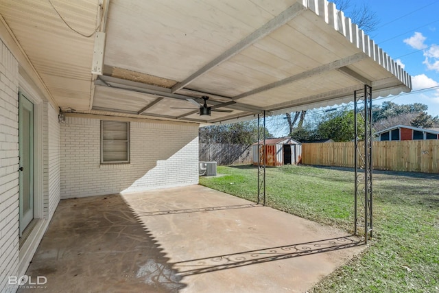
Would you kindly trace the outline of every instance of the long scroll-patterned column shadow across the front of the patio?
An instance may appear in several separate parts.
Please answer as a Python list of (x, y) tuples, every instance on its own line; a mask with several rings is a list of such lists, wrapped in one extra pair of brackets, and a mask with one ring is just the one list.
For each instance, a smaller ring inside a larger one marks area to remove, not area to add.
[(364, 245), (364, 241), (360, 241), (356, 237), (348, 235), (345, 237), (322, 239), (313, 242), (305, 242), (287, 246), (276, 246), (259, 250), (248, 250), (241, 253), (216, 255), (201, 259), (179, 261), (173, 263), (173, 267), (178, 270), (179, 276), (185, 277), (193, 274), (204, 274), (206, 272), (215, 272), (218, 270), (227, 270), (241, 266), (250, 266), (268, 261), (278, 261), (293, 257), (327, 253), (333, 250), (342, 250), (361, 245)]

